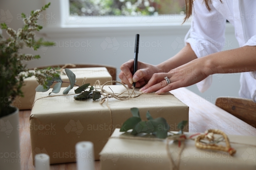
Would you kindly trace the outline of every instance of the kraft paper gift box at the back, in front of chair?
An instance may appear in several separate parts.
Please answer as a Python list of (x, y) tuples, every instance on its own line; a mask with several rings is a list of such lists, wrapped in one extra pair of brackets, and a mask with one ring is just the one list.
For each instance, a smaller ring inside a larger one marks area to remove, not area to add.
[[(100, 80), (100, 82), (105, 83), (111, 81), (112, 77), (105, 67), (94, 67), (94, 68), (73, 68), (70, 69), (76, 75), (76, 84), (81, 86), (83, 84), (83, 79), (86, 77), (86, 83), (93, 85), (95, 81)], [(65, 72), (65, 71), (64, 71)], [(60, 74), (62, 81), (69, 82), (68, 76), (65, 74)], [(36, 77), (29, 77), (24, 79), (25, 86), (22, 87), (24, 97), (17, 96), (13, 105), (20, 110), (31, 109), (31, 106), (35, 99), (36, 87), (38, 86)], [(68, 87), (69, 83), (63, 83), (62, 87)], [(54, 85), (51, 86), (51, 88)]]

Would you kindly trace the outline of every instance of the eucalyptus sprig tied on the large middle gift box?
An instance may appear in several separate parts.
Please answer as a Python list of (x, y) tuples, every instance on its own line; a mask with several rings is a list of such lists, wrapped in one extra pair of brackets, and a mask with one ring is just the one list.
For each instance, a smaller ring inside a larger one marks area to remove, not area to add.
[[(54, 69), (54, 68), (53, 68)], [(55, 69), (54, 69), (55, 71)], [(61, 79), (61, 76), (55, 71), (56, 76), (54, 77), (47, 77), (46, 83), (43, 85), (38, 85), (36, 88), (36, 91), (38, 92), (46, 92), (50, 89), (50, 86), (54, 83), (56, 83), (52, 89), (52, 91), (49, 93), (59, 93), (62, 83), (69, 83), (70, 85), (63, 91), (63, 94), (66, 95), (68, 92), (74, 87), (78, 86), (77, 89), (75, 89), (75, 93), (78, 95), (74, 96), (74, 99), (81, 100), (81, 99), (89, 99), (92, 98), (93, 100), (97, 100), (101, 97), (100, 91), (96, 90), (94, 91), (93, 86), (90, 87), (89, 91), (86, 91), (86, 89), (89, 88), (90, 83), (83, 84), (81, 86), (76, 84), (76, 75), (68, 68), (65, 69), (66, 75), (68, 76), (69, 82), (64, 82)]]

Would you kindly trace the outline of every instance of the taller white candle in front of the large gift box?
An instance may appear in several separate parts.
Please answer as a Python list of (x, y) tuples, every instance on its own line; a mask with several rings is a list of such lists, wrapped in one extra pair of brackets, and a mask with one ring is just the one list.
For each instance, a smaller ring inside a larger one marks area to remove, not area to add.
[(88, 141), (76, 144), (77, 170), (94, 170), (93, 143)]

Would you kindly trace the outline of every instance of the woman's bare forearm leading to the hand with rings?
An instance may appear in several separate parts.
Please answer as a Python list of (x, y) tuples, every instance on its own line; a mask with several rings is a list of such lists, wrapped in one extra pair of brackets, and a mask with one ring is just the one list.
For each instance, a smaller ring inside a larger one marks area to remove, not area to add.
[(207, 75), (256, 70), (256, 46), (244, 46), (199, 58)]

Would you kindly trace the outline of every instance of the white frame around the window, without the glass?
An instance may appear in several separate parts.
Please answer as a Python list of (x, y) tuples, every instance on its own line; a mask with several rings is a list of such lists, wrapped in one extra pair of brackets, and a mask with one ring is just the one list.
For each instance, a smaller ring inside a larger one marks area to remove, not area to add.
[(150, 27), (181, 25), (184, 15), (166, 14), (159, 16), (70, 16), (69, 0), (61, 0), (61, 24), (66, 28), (100, 27)]

